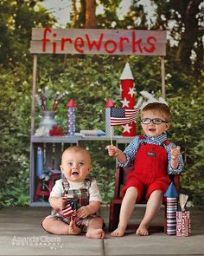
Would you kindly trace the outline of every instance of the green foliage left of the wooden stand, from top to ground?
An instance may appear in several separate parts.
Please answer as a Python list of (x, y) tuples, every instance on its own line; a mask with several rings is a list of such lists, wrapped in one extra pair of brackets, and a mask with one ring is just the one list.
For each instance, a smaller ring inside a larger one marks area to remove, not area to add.
[(0, 2), (0, 205), (28, 205), (31, 28), (51, 26), (41, 1)]

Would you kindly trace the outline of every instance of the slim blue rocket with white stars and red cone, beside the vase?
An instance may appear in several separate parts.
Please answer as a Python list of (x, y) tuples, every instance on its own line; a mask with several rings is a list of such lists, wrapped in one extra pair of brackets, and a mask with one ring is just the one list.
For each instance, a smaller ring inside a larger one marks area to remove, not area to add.
[(71, 99), (67, 103), (67, 135), (75, 133), (75, 102)]

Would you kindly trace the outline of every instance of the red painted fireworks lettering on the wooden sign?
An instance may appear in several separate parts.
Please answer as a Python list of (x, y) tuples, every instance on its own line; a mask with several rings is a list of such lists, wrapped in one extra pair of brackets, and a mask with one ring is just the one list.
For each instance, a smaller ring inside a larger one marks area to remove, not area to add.
[[(125, 51), (125, 54), (136, 53), (137, 55), (150, 55), (151, 53), (158, 51), (159, 48), (163, 50), (163, 42), (157, 42), (160, 41), (157, 34), (155, 36), (143, 36), (143, 33), (140, 34), (140, 30), (138, 33), (136, 30), (131, 31), (129, 34), (124, 33), (124, 36), (118, 37), (111, 36), (112, 34), (105, 34), (105, 32), (96, 34), (98, 36), (91, 33), (92, 38), (88, 32), (86, 32), (86, 34), (82, 34), (83, 36), (74, 37), (77, 33), (73, 33), (72, 31), (70, 37), (61, 37), (58, 36), (56, 32), (54, 33), (50, 28), (45, 28), (42, 31), (42, 52), (50, 51), (51, 48), (51, 51), (54, 54), (56, 52), (61, 53), (63, 51), (67, 51), (68, 49), (66, 49), (66, 47), (69, 47), (67, 43), (71, 45), (71, 52), (75, 51), (80, 54), (96, 53), (96, 51), (99, 53), (101, 52), (101, 54), (105, 54), (105, 52), (107, 54), (119, 54), (119, 51)], [(65, 33), (62, 35), (66, 36)], [(150, 35), (154, 34), (151, 32)], [(160, 47), (160, 45), (162, 46)], [(48, 47), (49, 49), (47, 49)], [(158, 49), (156, 49), (156, 47), (158, 47)]]

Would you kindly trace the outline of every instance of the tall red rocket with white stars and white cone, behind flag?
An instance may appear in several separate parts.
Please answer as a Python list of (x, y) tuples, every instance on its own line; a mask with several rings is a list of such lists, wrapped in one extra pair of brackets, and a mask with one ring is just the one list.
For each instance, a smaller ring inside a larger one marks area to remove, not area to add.
[[(134, 78), (131, 73), (131, 68), (128, 62), (124, 66), (122, 75), (120, 76), (120, 90), (121, 90), (121, 102), (122, 108), (134, 108), (135, 107), (135, 88)], [(135, 136), (136, 135), (136, 123), (133, 121), (123, 125), (123, 136)]]

